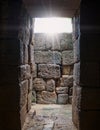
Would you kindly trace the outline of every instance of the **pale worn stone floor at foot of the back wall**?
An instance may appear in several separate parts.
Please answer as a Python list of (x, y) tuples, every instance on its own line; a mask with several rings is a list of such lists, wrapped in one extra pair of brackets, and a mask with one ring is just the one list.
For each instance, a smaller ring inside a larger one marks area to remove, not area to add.
[(33, 104), (23, 130), (76, 130), (71, 105)]

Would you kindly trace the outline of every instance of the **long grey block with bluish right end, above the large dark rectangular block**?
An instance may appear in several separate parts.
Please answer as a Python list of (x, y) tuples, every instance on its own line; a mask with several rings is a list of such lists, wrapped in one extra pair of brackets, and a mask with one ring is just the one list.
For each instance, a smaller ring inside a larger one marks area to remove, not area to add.
[(37, 64), (61, 64), (61, 53), (57, 51), (35, 51), (34, 58)]

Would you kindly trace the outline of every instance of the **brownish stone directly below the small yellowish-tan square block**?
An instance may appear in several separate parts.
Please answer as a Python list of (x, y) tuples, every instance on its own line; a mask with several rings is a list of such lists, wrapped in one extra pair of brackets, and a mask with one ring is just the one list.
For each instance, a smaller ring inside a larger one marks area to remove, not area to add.
[(62, 87), (73, 87), (73, 75), (62, 75), (60, 82)]

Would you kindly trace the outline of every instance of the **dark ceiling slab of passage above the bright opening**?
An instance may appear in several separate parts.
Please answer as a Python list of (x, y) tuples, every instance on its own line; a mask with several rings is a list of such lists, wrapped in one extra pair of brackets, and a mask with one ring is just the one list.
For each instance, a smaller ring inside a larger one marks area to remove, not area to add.
[(80, 0), (23, 0), (32, 17), (73, 17)]

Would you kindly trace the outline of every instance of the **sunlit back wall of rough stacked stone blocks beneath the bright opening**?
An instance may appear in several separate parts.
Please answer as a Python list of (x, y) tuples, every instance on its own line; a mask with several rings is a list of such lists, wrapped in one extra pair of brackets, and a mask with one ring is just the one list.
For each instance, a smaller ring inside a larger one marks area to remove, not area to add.
[(35, 75), (33, 101), (43, 104), (72, 102), (72, 34), (34, 34)]

